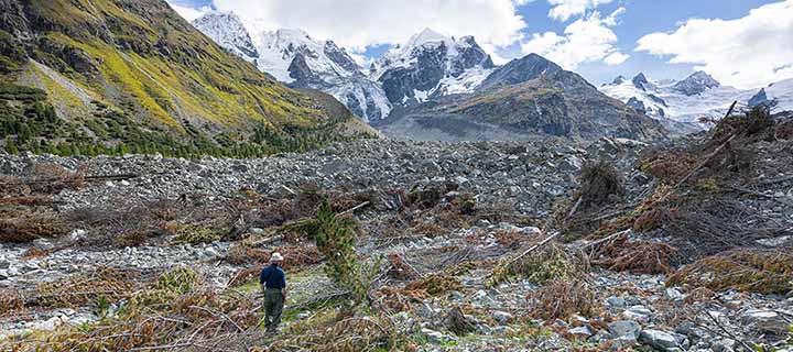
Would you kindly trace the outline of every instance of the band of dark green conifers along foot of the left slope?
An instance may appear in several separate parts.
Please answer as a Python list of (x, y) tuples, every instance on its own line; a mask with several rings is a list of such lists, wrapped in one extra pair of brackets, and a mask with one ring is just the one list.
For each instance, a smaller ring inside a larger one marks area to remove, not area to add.
[(333, 142), (374, 138), (341, 135), (335, 131), (340, 120), (317, 127), (286, 125), (276, 130), (259, 122), (250, 138), (218, 133), (207, 135), (185, 123), (185, 134), (166, 131), (154, 123), (134, 121), (128, 113), (94, 101), (96, 112), (80, 121), (58, 118), (37, 88), (0, 84), (0, 141), (3, 148), (17, 154), (32, 152), (61, 156), (161, 154), (167, 157), (197, 158), (261, 157), (279, 153), (303, 153)]

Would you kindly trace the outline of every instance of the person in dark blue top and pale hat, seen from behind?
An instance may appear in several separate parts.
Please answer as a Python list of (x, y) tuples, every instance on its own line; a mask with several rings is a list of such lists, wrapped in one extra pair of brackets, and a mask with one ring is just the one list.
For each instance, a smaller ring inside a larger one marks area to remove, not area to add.
[(259, 275), (259, 284), (264, 293), (264, 327), (269, 332), (276, 332), (281, 323), (281, 311), (286, 300), (286, 273), (281, 268), (283, 256), (273, 253), (270, 265)]

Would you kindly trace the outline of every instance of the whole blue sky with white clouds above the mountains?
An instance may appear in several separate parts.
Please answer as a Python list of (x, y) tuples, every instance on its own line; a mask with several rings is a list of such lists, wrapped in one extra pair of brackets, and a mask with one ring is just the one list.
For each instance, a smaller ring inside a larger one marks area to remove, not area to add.
[(741, 89), (793, 78), (793, 0), (167, 0), (187, 20), (232, 11), (251, 32), (300, 28), (359, 61), (431, 28), (496, 64), (536, 53), (596, 85), (705, 70)]

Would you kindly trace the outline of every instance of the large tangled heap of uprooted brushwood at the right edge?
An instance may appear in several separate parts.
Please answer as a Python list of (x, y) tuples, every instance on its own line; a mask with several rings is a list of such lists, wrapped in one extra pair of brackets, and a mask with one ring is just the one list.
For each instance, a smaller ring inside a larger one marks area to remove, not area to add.
[[(757, 107), (719, 121), (700, 141), (652, 148), (637, 168), (656, 182), (632, 202), (615, 197), (620, 187), (611, 180), (617, 178), (601, 164), (585, 168), (579, 204), (564, 208), (569, 213), (565, 239), (607, 239), (590, 249), (593, 264), (656, 274), (734, 249), (762, 249), (763, 240), (790, 235), (790, 228), (758, 209), (793, 206), (781, 199), (784, 194), (763, 191), (787, 182), (769, 179), (783, 174), (775, 158), (789, 156), (768, 143), (786, 145), (778, 139), (791, 125), (790, 118), (774, 119)], [(586, 211), (587, 204), (599, 209)]]

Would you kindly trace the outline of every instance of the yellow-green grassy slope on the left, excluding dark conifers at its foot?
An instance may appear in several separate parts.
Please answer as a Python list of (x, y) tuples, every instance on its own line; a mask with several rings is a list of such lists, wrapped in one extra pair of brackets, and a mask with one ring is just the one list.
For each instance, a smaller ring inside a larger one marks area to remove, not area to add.
[[(44, 90), (58, 118), (75, 125), (62, 141), (129, 142), (85, 128), (93, 121), (105, 130), (108, 116), (165, 139), (225, 145), (262, 128), (330, 133), (345, 129), (328, 124), (354, 118), (226, 53), (162, 0), (31, 0), (3, 12), (15, 25), (0, 21), (2, 82)], [(18, 110), (8, 125), (31, 121), (30, 109)], [(15, 135), (13, 127), (2, 136)]]

